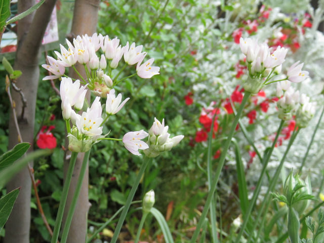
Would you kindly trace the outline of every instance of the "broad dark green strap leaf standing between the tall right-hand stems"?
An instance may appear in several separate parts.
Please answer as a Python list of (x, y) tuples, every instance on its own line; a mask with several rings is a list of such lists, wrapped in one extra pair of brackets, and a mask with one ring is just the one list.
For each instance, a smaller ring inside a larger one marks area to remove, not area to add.
[(241, 159), (241, 154), (239, 151), (239, 147), (235, 138), (232, 138), (232, 143), (235, 147), (235, 160), (236, 160), (236, 172), (237, 172), (237, 184), (238, 184), (238, 197), (239, 203), (241, 207), (242, 214), (245, 215), (248, 205), (248, 188), (247, 182), (245, 179), (245, 171), (244, 166)]

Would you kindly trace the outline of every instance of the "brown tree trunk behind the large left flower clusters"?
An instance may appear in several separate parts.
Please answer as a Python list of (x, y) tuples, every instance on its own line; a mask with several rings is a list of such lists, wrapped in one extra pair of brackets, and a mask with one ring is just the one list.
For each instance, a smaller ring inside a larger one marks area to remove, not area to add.
[[(99, 3), (100, 0), (91, 0), (91, 1), (76, 0), (75, 1), (73, 20), (72, 20), (72, 29), (71, 29), (71, 35), (73, 37), (82, 34), (92, 35), (94, 32), (96, 32), (97, 22), (98, 22)], [(76, 68), (78, 69), (81, 75), (86, 77), (86, 73), (82, 65), (76, 65)], [(79, 79), (78, 75), (72, 69), (70, 69), (69, 76)], [(87, 98), (89, 100), (90, 95)], [(78, 179), (78, 175), (80, 173), (83, 158), (84, 158), (84, 153), (79, 153), (76, 159), (73, 176), (70, 184), (70, 189), (66, 201), (63, 224), (65, 222), (65, 218), (67, 216), (67, 212), (71, 204), (71, 200), (76, 187), (76, 182)], [(64, 163), (65, 173), (67, 171), (67, 168), (68, 168), (68, 161), (65, 161)], [(88, 181), (89, 181), (89, 171), (87, 168), (86, 175), (83, 180), (82, 188), (80, 191), (80, 195), (74, 211), (69, 234), (67, 237), (67, 242), (69, 243), (85, 242), (85, 238), (87, 234), (87, 218), (88, 218), (87, 215), (88, 215), (88, 210), (90, 208), (90, 203), (88, 198), (88, 186), (89, 186)]]

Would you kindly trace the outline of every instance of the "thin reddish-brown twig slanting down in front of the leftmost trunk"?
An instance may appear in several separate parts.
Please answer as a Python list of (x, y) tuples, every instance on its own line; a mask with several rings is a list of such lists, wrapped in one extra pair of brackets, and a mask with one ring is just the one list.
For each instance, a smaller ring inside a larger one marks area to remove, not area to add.
[[(8, 93), (9, 101), (10, 101), (11, 108), (12, 108), (14, 123), (15, 123), (16, 130), (17, 130), (17, 133), (18, 133), (18, 142), (19, 143), (22, 143), (23, 140), (22, 140), (22, 137), (21, 137), (21, 133), (20, 133), (19, 125), (18, 125), (17, 114), (16, 114), (16, 104), (14, 103), (14, 101), (12, 99), (12, 96), (11, 96), (10, 85), (13, 85), (13, 83), (10, 82), (10, 79), (9, 79), (8, 75), (6, 75), (6, 91)], [(23, 96), (23, 93), (21, 92), (21, 89), (19, 89), (17, 92), (19, 92), (20, 94), (22, 94), (22, 99), (24, 99), (24, 96)], [(36, 187), (36, 183), (35, 183), (35, 178), (34, 178), (34, 169), (29, 164), (28, 164), (28, 172), (29, 172), (29, 176), (30, 176), (30, 179), (31, 179), (32, 186), (34, 188), (36, 202), (37, 202), (37, 208), (38, 208), (39, 214), (41, 214), (42, 219), (43, 219), (43, 222), (44, 222), (47, 230), (49, 231), (49, 233), (51, 235), (53, 235), (53, 231), (51, 229), (51, 226), (47, 222), (46, 216), (44, 214), (43, 207), (42, 207), (42, 204), (41, 204), (41, 200), (39, 200), (39, 196), (38, 196), (38, 192), (37, 192), (37, 187)], [(58, 241), (58, 243), (59, 243), (59, 241)]]

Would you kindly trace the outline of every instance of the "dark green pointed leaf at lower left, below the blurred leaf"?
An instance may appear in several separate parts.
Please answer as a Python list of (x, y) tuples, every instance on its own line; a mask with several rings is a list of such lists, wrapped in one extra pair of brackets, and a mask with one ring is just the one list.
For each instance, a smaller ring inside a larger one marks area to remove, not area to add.
[(7, 222), (14, 207), (20, 188), (17, 188), (0, 198), (0, 231)]

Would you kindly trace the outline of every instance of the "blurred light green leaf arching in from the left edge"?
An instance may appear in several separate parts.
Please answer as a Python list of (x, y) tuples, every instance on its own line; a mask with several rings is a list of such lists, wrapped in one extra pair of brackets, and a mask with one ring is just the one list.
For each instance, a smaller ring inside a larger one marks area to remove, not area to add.
[(4, 170), (0, 171), (0, 189), (3, 188), (4, 185), (21, 169), (23, 169), (27, 163), (35, 158), (48, 155), (52, 153), (53, 150), (51, 149), (42, 149), (36, 150), (34, 152), (28, 153), (23, 158), (19, 159), (13, 165), (5, 168)]

